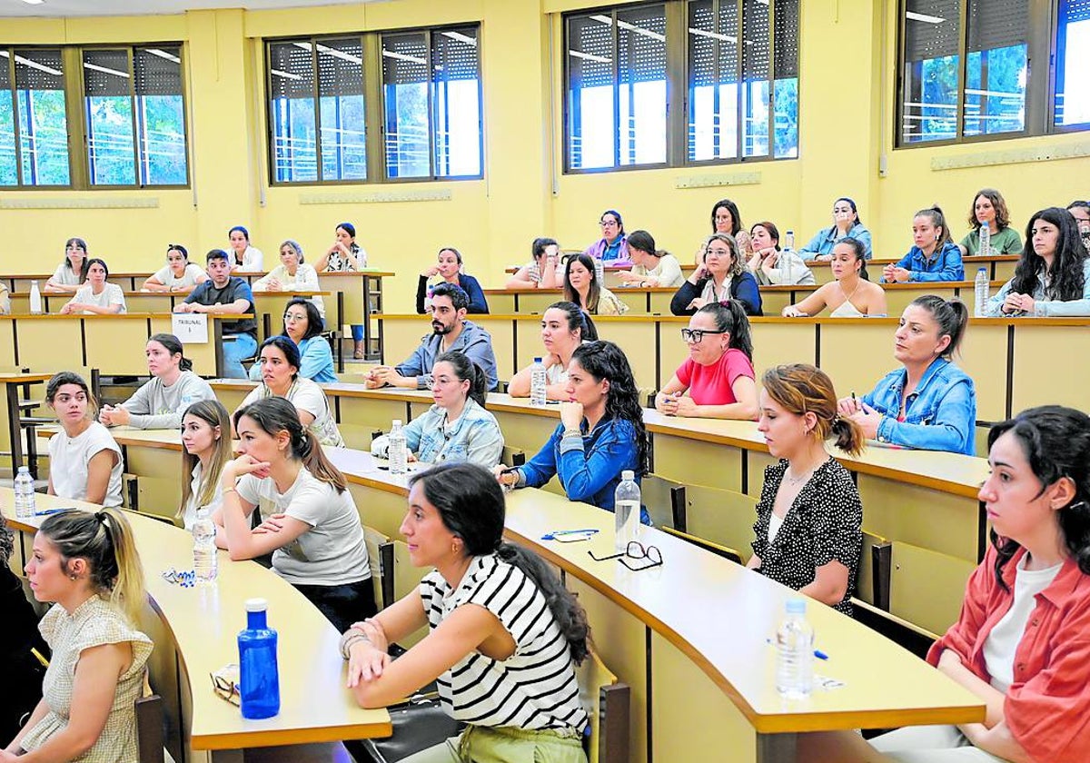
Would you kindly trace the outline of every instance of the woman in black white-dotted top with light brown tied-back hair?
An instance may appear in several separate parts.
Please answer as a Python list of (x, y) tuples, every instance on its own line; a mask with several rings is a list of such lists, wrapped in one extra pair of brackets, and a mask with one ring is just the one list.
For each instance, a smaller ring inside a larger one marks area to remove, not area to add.
[(750, 569), (851, 615), (863, 536), (863, 505), (851, 474), (825, 449), (863, 449), (863, 434), (837, 414), (833, 383), (808, 364), (778, 365), (761, 379), (768, 452), (753, 523)]

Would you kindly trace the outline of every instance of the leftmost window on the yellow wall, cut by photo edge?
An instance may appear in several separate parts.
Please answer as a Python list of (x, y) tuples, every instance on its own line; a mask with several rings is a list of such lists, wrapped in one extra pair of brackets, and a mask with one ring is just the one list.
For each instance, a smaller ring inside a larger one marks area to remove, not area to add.
[(181, 63), (177, 45), (0, 49), (0, 186), (185, 185)]

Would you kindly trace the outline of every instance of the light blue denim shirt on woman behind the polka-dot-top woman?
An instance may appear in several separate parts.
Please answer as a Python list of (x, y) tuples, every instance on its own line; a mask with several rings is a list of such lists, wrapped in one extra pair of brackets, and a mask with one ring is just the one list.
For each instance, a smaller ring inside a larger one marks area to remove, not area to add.
[(972, 456), (977, 426), (977, 388), (964, 371), (936, 358), (905, 401), (905, 421), (897, 421), (908, 372), (886, 374), (863, 402), (882, 414), (877, 440), (921, 450), (947, 450)]

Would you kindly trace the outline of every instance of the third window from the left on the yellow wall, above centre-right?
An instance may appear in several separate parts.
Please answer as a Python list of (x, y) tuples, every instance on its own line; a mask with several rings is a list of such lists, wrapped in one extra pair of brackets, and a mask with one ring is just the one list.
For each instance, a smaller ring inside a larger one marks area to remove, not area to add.
[(567, 169), (798, 156), (798, 13), (690, 0), (567, 16)]

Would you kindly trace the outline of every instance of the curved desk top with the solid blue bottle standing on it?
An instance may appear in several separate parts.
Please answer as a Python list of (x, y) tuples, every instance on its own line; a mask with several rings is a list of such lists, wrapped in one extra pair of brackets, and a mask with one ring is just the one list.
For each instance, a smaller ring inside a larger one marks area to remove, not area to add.
[[(174, 433), (177, 436), (177, 433)], [(93, 504), (38, 494), (38, 509), (70, 507), (96, 510)], [(0, 488), (8, 522), (34, 531), (44, 518), (16, 520), (14, 494)], [(361, 710), (346, 688), (346, 663), (338, 652), (340, 634), (290, 583), (253, 561), (232, 562), (219, 552), (215, 588), (183, 589), (162, 571), (192, 569), (189, 533), (136, 512), (128, 512), (141, 550), (152, 607), (173, 634), (193, 694), (192, 746), (196, 750), (232, 750), (301, 742), (383, 737), (392, 734), (385, 710)], [(244, 602), (263, 596), (269, 625), (279, 632), (280, 713), (247, 720), (211, 691), (208, 675), (239, 662), (235, 635), (245, 627)]]

